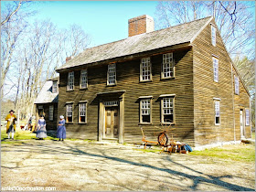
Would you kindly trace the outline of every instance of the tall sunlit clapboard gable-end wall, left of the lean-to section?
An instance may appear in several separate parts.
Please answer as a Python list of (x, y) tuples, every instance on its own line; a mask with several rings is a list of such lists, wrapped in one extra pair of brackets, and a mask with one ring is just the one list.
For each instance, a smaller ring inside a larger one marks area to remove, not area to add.
[[(211, 24), (216, 27), (213, 20)], [(208, 24), (192, 42), (196, 145), (234, 140), (232, 90), (234, 85), (232, 85), (231, 63), (218, 32), (217, 46), (211, 45), (211, 24)], [(219, 82), (215, 82), (213, 77), (213, 55), (219, 59)], [(220, 99), (220, 125), (215, 125), (213, 98)], [(249, 104), (248, 98), (242, 99)], [(235, 118), (236, 122), (240, 121), (239, 117)]]

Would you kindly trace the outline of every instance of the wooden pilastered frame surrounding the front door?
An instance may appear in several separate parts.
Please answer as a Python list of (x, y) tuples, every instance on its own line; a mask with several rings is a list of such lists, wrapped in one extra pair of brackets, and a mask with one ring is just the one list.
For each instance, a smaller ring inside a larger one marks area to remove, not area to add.
[[(122, 93), (118, 95), (118, 97), (114, 97), (112, 101), (118, 101), (118, 120), (119, 120), (119, 130), (118, 130), (118, 143), (123, 144), (123, 133), (124, 133), (124, 93), (125, 91), (117, 91), (117, 92), (108, 92), (108, 93), (98, 93), (97, 95), (106, 95), (109, 96), (110, 93)], [(117, 99), (116, 99), (117, 98)], [(99, 100), (99, 115), (98, 115), (98, 122), (99, 122), (99, 137), (98, 140), (101, 142), (104, 138), (104, 127), (105, 127), (105, 101), (110, 101), (109, 97), (101, 98)], [(107, 100), (108, 99), (108, 100)], [(110, 105), (108, 105), (110, 106)], [(108, 138), (107, 138), (108, 139)], [(108, 139), (109, 140), (109, 139)]]

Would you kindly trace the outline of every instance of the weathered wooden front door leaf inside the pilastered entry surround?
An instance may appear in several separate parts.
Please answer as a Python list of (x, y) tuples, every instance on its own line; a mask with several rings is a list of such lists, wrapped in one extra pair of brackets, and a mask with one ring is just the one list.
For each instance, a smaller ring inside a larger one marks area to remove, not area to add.
[(118, 107), (105, 108), (105, 138), (118, 138)]

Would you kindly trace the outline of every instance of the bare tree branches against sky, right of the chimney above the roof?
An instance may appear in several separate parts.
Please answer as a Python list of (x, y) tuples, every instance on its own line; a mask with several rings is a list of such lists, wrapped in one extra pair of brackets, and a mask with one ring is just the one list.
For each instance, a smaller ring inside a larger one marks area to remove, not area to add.
[(229, 54), (246, 53), (253, 58), (255, 20), (249, 10), (253, 6), (253, 2), (240, 1), (161, 1), (156, 7), (156, 26), (171, 27), (214, 16)]

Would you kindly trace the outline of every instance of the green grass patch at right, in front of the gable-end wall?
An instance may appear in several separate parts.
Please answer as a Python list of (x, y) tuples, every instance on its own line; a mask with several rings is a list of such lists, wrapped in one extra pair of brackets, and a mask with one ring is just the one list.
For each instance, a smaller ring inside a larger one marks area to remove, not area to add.
[(233, 144), (203, 151), (193, 151), (189, 155), (215, 157), (240, 162), (255, 162), (255, 144)]

